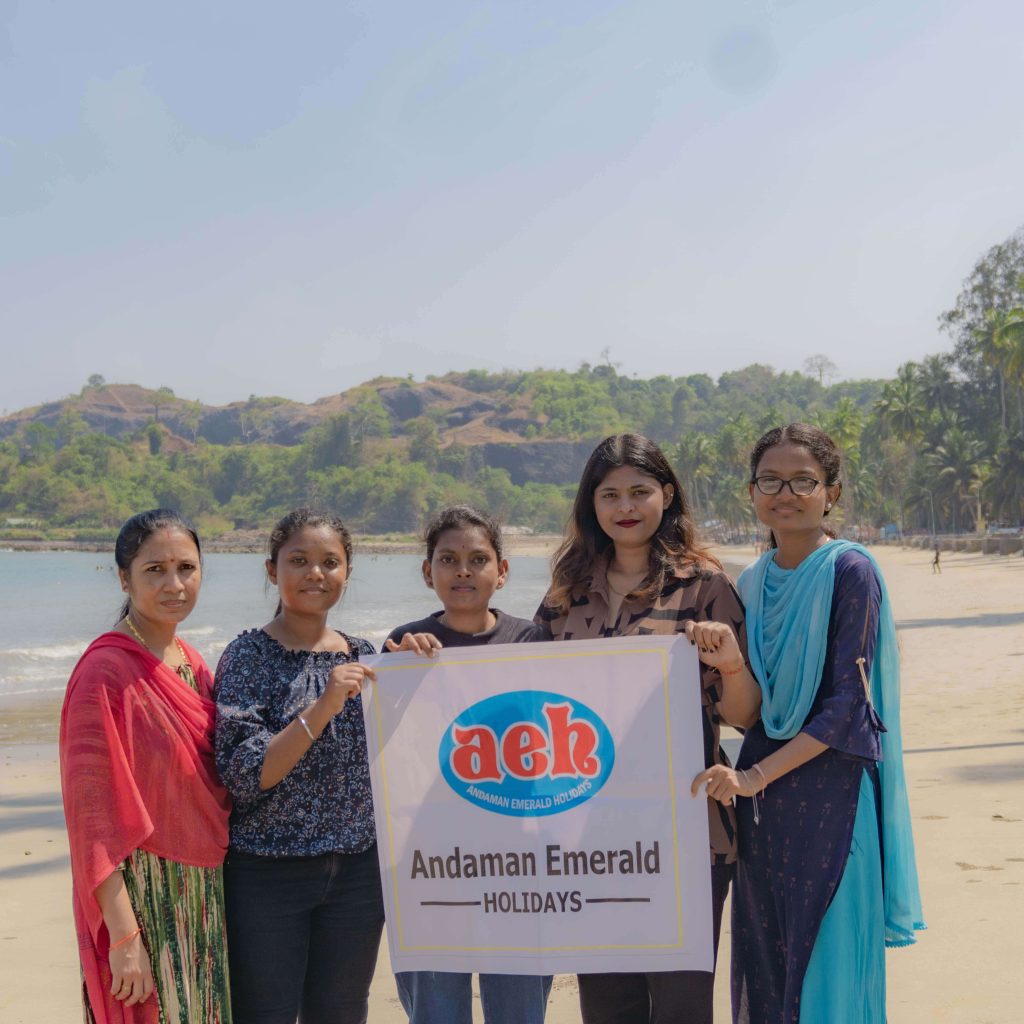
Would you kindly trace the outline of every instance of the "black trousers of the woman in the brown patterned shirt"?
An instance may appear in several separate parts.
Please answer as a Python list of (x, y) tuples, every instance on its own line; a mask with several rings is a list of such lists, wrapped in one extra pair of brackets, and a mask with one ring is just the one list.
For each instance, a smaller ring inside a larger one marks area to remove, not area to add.
[[(722, 908), (735, 864), (713, 864), (711, 903), (715, 956)], [(581, 974), (584, 1024), (712, 1024), (715, 975), (710, 971), (652, 971), (650, 974)]]

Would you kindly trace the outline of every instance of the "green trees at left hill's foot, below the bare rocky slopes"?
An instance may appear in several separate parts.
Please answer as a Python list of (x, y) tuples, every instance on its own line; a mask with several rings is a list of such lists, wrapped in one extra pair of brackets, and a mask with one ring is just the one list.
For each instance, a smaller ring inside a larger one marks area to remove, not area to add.
[[(374, 438), (351, 440), (347, 414), (302, 442), (167, 451), (166, 428), (119, 439), (30, 424), (0, 441), (0, 515), (88, 532), (154, 506), (180, 509), (208, 531), (266, 526), (304, 502), (336, 508), (368, 532), (418, 528), (452, 501), (498, 509), (508, 521), (561, 528), (569, 488), (512, 483), (507, 470), (470, 468), (460, 453), (414, 461)], [(433, 464), (431, 468), (430, 463)], [(2, 520), (0, 520), (2, 523)]]

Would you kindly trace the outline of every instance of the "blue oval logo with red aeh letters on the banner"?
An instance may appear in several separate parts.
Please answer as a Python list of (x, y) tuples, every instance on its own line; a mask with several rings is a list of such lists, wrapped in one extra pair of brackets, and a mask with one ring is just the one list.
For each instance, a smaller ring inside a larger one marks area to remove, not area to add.
[(437, 750), (463, 800), (496, 814), (541, 817), (586, 803), (611, 775), (608, 727), (561, 693), (516, 690), (467, 708)]

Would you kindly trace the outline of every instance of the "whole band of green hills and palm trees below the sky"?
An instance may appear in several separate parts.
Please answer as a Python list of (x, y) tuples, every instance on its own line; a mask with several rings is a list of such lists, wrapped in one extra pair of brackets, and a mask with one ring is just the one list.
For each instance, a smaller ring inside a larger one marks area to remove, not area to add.
[(941, 326), (954, 348), (890, 381), (825, 382), (755, 364), (626, 377), (471, 370), (377, 379), (311, 406), (250, 396), (221, 409), (169, 388), (89, 379), (81, 394), (0, 420), (0, 525), (103, 531), (178, 508), (208, 532), (265, 527), (304, 502), (368, 532), (416, 529), (468, 501), (560, 530), (590, 446), (646, 433), (674, 460), (696, 517), (751, 525), (746, 456), (765, 429), (817, 423), (846, 453), (846, 526), (974, 529), (1024, 519), (1024, 229), (993, 247)]

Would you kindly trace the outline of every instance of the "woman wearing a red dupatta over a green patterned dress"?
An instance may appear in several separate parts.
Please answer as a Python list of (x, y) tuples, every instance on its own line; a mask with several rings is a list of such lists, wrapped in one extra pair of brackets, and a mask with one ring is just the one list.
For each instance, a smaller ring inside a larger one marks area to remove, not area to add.
[(229, 1024), (213, 679), (176, 635), (199, 596), (199, 537), (176, 512), (141, 512), (115, 559), (127, 600), (75, 667), (60, 714), (85, 1017)]

